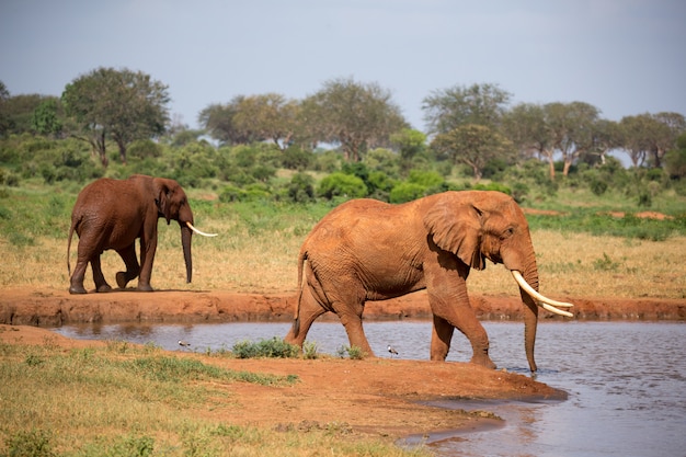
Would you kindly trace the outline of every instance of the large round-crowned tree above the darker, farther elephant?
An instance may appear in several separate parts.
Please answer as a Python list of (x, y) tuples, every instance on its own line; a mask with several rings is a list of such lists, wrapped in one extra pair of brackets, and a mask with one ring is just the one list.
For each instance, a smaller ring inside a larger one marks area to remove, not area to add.
[(127, 146), (161, 135), (169, 122), (168, 87), (141, 71), (98, 68), (67, 84), (61, 99), (77, 125), (72, 135), (88, 141), (105, 167), (107, 139), (126, 164)]

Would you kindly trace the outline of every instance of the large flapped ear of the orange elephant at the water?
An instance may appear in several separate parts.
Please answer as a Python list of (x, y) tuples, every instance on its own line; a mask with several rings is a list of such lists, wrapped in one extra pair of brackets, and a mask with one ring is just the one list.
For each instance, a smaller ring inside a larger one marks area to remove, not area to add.
[(472, 269), (483, 270), (482, 216), (470, 203), (443, 198), (424, 215), (424, 227), (438, 248), (453, 252)]

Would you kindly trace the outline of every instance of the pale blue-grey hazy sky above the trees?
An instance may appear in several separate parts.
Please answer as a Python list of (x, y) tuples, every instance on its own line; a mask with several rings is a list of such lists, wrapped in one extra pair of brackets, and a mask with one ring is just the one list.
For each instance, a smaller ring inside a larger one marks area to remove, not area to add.
[(686, 115), (683, 0), (0, 0), (0, 81), (59, 96), (99, 67), (167, 84), (170, 115), (237, 95), (301, 100), (377, 83), (426, 124), (433, 92), (494, 83), (512, 103), (581, 101), (605, 118)]

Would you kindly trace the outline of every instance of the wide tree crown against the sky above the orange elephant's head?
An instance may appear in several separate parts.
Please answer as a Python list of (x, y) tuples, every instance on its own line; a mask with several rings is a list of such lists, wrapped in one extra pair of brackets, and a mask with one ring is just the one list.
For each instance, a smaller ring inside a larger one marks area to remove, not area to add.
[(499, 128), (511, 98), (498, 84), (455, 85), (434, 91), (423, 100), (422, 110), (431, 135), (466, 124)]

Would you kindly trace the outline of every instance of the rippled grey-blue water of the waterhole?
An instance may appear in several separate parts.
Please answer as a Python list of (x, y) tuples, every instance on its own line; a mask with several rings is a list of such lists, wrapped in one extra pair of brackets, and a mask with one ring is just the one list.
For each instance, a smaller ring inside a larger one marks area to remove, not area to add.
[[(499, 367), (528, 374), (523, 324), (485, 322), (491, 357)], [(126, 340), (180, 350), (230, 350), (239, 341), (284, 336), (287, 323), (183, 325), (80, 325), (58, 332), (72, 338)], [(367, 322), (371, 349), (399, 358), (428, 358), (431, 323)], [(319, 351), (347, 345), (340, 323), (316, 323), (308, 334)], [(471, 347), (456, 333), (449, 361), (467, 362)], [(432, 447), (450, 456), (682, 456), (686, 447), (686, 324), (564, 322), (538, 328), (537, 380), (569, 392), (559, 403), (442, 404), (494, 411), (505, 425), (489, 432), (436, 436)], [(441, 439), (443, 441), (441, 441)]]

